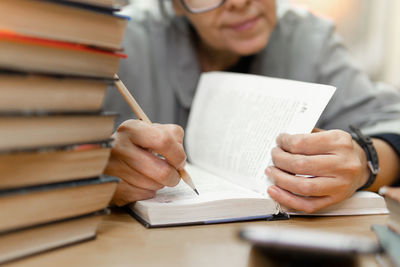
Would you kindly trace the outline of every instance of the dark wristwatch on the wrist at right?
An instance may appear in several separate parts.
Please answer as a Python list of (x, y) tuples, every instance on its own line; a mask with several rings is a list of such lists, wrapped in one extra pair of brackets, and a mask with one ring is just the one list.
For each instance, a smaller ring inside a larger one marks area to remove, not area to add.
[(353, 137), (353, 140), (356, 141), (357, 144), (362, 147), (362, 149), (364, 149), (367, 156), (368, 168), (370, 170), (367, 182), (357, 189), (357, 191), (360, 191), (370, 187), (375, 182), (376, 176), (379, 173), (378, 153), (376, 153), (375, 147), (370, 137), (363, 135), (360, 129), (354, 127), (353, 125), (349, 125), (349, 128), (351, 130), (351, 136)]

